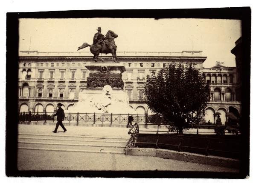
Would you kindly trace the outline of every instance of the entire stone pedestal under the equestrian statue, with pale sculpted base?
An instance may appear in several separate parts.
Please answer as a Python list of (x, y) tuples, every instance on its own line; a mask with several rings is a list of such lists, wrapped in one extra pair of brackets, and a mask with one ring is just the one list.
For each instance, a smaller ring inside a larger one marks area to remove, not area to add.
[(125, 66), (121, 63), (90, 63), (87, 88), (79, 93), (79, 101), (70, 112), (135, 114), (129, 106), (128, 94), (123, 91), (122, 73)]

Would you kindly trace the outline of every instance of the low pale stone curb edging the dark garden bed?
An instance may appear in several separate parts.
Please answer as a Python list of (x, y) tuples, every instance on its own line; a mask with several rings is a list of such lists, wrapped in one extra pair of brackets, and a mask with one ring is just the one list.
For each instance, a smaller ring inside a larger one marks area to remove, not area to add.
[(218, 156), (206, 156), (203, 154), (195, 154), (190, 152), (177, 152), (168, 149), (126, 148), (125, 155), (154, 156), (179, 161), (186, 161), (190, 163), (224, 166), (228, 168), (239, 169), (239, 160), (236, 159)]

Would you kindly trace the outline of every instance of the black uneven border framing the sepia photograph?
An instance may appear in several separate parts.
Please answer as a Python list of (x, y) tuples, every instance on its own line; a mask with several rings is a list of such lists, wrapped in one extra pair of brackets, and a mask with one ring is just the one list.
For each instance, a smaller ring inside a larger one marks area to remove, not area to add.
[[(209, 9), (151, 9), (151, 10), (78, 10), (22, 12), (6, 14), (6, 175), (9, 177), (184, 177), (184, 178), (245, 178), (249, 175), (250, 150), (250, 7)], [(237, 19), (242, 22), (243, 65), (241, 114), (242, 156), (239, 173), (219, 172), (171, 172), (171, 171), (19, 171), (17, 169), (17, 78), (19, 18), (214, 18)]]

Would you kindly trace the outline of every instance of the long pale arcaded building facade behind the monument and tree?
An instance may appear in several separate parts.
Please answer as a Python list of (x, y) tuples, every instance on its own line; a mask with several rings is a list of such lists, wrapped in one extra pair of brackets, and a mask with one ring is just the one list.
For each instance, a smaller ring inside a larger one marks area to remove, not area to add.
[[(122, 74), (124, 91), (130, 106), (138, 114), (152, 114), (145, 103), (144, 83), (148, 74), (157, 74), (168, 63), (193, 63), (204, 73), (210, 86), (210, 102), (205, 120), (215, 122), (220, 112), (226, 121), (226, 112), (240, 113), (241, 102), (236, 100), (236, 68), (220, 64), (203, 68), (207, 59), (202, 51), (182, 52), (117, 52), (119, 62), (125, 66)], [(111, 56), (102, 57), (106, 62)], [(86, 89), (89, 76), (86, 65), (93, 62), (89, 52), (20, 51), (19, 55), (19, 112), (55, 112), (56, 104), (70, 109), (79, 100), (79, 92)]]

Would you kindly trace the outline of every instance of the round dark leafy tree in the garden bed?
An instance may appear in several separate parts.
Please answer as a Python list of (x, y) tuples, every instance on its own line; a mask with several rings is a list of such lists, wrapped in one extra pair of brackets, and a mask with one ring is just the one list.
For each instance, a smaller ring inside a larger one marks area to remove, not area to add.
[(144, 84), (146, 103), (151, 111), (162, 118), (164, 124), (178, 133), (192, 128), (204, 120), (209, 102), (209, 85), (195, 66), (169, 63), (157, 76), (147, 76)]

